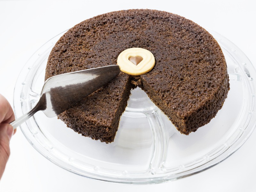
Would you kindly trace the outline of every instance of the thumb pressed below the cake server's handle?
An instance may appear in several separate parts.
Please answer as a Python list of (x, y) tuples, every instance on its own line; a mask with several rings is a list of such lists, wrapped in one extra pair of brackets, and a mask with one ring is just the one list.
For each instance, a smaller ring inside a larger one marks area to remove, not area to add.
[(13, 127), (10, 124), (0, 124), (0, 179), (5, 165), (10, 156), (10, 139), (13, 135)]

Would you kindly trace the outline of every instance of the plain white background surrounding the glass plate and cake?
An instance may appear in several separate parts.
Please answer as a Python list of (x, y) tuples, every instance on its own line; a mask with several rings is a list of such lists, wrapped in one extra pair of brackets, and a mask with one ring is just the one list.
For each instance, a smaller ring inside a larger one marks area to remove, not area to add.
[[(256, 65), (256, 4), (252, 0), (0, 0), (0, 93), (12, 105), (21, 68), (53, 36), (98, 14), (133, 8), (168, 11), (193, 20), (228, 38)], [(163, 184), (124, 185), (87, 179), (58, 167), (40, 155), (17, 130), (0, 191), (255, 191), (255, 146), (254, 131), (232, 156), (204, 172)]]

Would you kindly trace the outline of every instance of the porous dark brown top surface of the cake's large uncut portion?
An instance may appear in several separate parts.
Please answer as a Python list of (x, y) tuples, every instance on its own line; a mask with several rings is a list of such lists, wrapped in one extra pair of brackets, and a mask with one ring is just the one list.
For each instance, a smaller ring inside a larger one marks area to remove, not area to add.
[(220, 46), (204, 28), (156, 10), (110, 12), (77, 24), (54, 46), (45, 78), (115, 65), (118, 55), (132, 47), (153, 53), (155, 67), (140, 78), (179, 116), (212, 98), (226, 78)]

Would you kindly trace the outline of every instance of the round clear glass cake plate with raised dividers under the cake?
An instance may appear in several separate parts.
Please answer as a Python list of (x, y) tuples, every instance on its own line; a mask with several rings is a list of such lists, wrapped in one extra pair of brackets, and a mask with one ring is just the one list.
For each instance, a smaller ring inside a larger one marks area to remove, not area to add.
[[(161, 183), (220, 163), (240, 148), (254, 130), (256, 72), (236, 45), (208, 31), (225, 55), (230, 91), (216, 117), (189, 136), (180, 134), (140, 88), (132, 90), (113, 143), (83, 137), (57, 117), (47, 118), (41, 111), (20, 126), (22, 132), (52, 163), (96, 180)], [(37, 50), (22, 69), (14, 90), (16, 117), (39, 100), (49, 53), (65, 32)]]

